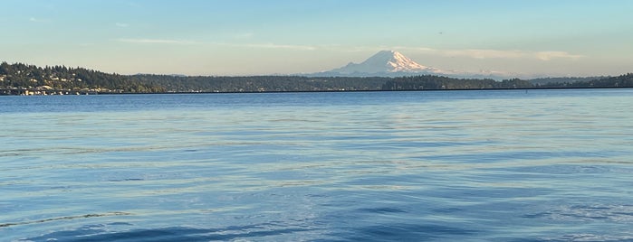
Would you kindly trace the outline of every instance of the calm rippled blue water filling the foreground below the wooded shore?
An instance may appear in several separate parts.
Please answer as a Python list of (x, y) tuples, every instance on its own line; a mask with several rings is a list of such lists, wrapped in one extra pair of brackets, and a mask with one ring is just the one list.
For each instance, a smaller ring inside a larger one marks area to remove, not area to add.
[(633, 89), (0, 97), (1, 241), (633, 241)]

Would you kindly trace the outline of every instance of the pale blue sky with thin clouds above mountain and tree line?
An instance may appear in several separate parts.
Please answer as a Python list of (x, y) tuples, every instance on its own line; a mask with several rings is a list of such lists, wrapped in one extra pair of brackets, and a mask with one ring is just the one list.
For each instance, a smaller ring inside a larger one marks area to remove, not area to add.
[(633, 72), (629, 0), (0, 0), (0, 61), (297, 74), (381, 50), (517, 77)]

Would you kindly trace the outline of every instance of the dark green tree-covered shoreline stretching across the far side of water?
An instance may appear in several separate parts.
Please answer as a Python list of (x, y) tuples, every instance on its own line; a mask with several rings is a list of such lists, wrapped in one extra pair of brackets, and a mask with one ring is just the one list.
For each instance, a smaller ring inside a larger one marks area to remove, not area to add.
[(65, 66), (0, 63), (0, 94), (96, 94), (169, 92), (287, 92), (508, 88), (633, 88), (633, 73), (618, 77), (456, 79), (408, 77), (120, 75)]

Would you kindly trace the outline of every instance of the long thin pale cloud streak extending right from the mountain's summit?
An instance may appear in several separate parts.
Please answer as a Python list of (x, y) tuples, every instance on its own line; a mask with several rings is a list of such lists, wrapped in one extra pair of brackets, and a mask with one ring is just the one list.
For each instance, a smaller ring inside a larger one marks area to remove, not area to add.
[(532, 59), (541, 61), (551, 61), (554, 59), (578, 60), (584, 56), (571, 54), (566, 51), (519, 51), (519, 50), (490, 50), (490, 49), (463, 49), (463, 50), (443, 50), (432, 48), (410, 48), (395, 47), (395, 49), (407, 49), (411, 51), (421, 51), (429, 54), (436, 54), (448, 57), (467, 57), (474, 59)]

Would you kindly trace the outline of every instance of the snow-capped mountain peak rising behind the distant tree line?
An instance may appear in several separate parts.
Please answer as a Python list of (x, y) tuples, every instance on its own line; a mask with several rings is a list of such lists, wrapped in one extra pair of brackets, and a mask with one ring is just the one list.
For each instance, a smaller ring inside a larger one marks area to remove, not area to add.
[(398, 51), (379, 51), (360, 63), (349, 63), (344, 67), (313, 75), (322, 76), (406, 76), (417, 74), (441, 75), (445, 72), (418, 64)]

